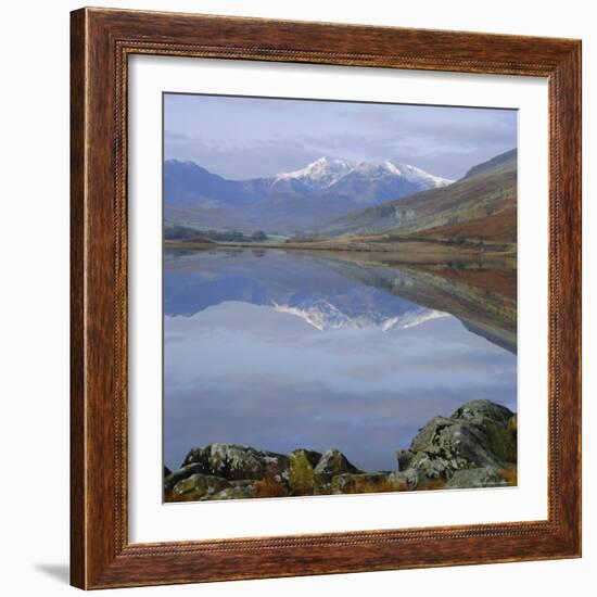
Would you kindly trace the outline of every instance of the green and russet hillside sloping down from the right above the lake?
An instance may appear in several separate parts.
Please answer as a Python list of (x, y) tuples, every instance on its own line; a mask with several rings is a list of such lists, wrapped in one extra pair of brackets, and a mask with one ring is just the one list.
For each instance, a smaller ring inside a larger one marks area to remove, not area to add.
[(447, 187), (359, 209), (313, 230), (318, 237), (398, 234), (513, 243), (517, 150), (472, 167)]

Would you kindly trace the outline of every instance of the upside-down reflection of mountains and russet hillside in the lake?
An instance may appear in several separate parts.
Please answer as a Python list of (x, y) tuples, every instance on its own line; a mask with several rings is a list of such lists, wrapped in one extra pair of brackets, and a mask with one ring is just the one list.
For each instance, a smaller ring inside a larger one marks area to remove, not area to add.
[(166, 252), (164, 313), (189, 317), (239, 301), (272, 307), (320, 330), (374, 326), (384, 331), (449, 314), (516, 353), (515, 269), (406, 267), (383, 263), (383, 255), (359, 259), (280, 250)]

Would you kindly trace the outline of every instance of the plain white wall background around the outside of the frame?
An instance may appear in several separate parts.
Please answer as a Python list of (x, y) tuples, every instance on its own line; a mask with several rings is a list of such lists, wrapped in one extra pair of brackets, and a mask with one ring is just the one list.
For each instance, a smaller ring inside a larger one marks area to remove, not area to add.
[[(130, 595), (594, 594), (597, 570), (597, 34), (585, 0), (140, 0), (130, 9), (338, 21), (582, 38), (584, 72), (584, 558), (342, 576), (129, 589)], [(68, 577), (68, 12), (71, 0), (5, 3), (0, 36), (3, 482), (0, 586), (5, 595), (75, 594)], [(7, 135), (8, 134), (8, 135)], [(589, 172), (590, 170), (590, 172)], [(593, 276), (590, 276), (593, 270)], [(593, 580), (593, 587), (589, 586)], [(107, 592), (111, 593), (111, 592)], [(105, 593), (104, 593), (105, 595)]]

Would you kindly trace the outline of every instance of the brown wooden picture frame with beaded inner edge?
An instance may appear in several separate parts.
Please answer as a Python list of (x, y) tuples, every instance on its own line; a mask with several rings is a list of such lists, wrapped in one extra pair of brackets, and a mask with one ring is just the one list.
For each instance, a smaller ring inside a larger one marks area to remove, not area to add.
[[(544, 77), (549, 89), (547, 520), (130, 544), (127, 59), (157, 54)], [(72, 584), (106, 588), (581, 555), (581, 42), (168, 14), (72, 13)]]

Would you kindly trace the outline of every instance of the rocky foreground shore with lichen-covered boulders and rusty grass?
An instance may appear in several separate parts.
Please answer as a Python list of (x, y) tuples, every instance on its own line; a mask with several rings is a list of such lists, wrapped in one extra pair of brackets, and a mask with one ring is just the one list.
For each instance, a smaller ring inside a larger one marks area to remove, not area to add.
[(215, 443), (191, 449), (183, 466), (164, 469), (167, 500), (244, 499), (440, 487), (515, 485), (517, 416), (488, 401), (471, 401), (450, 417), (433, 417), (396, 472), (364, 472), (338, 449), (290, 455)]

